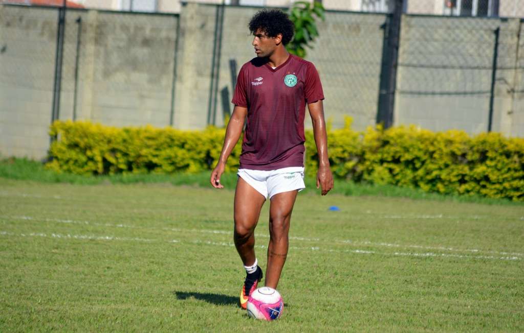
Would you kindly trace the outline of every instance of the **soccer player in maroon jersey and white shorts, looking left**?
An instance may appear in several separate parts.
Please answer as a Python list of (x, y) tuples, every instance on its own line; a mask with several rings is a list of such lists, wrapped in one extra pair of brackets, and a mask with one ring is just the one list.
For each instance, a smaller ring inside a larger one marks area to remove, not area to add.
[(319, 171), (316, 187), (324, 196), (333, 188), (328, 160), (324, 99), (315, 66), (289, 54), (293, 22), (281, 10), (260, 10), (249, 22), (256, 58), (245, 63), (233, 96), (233, 114), (227, 125), (211, 185), (223, 188), (220, 177), (247, 117), (234, 203), (234, 242), (246, 269), (240, 304), (262, 278), (255, 257), (255, 227), (260, 210), (270, 200), (266, 286), (276, 289), (288, 254), (288, 233), (293, 204), (305, 188), (304, 116), (308, 105), (313, 123)]

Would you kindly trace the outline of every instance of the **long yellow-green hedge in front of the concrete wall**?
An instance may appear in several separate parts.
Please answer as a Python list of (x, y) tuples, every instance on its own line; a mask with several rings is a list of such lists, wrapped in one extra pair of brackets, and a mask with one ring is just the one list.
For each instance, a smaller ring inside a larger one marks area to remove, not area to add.
[[(338, 178), (417, 187), (440, 193), (477, 193), (524, 200), (524, 139), (498, 133), (431, 132), (414, 126), (328, 131), (332, 170)], [(214, 167), (224, 129), (203, 131), (114, 128), (89, 122), (57, 121), (50, 134), (48, 167), (83, 175), (196, 173)], [(306, 132), (306, 169), (316, 172), (311, 131)], [(238, 166), (241, 141), (227, 162)]]

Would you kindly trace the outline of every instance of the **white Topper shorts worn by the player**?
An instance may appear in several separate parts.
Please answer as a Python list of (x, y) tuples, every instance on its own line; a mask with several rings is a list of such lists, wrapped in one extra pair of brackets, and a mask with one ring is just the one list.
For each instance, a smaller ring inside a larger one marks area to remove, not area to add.
[(293, 190), (302, 191), (305, 188), (303, 167), (289, 167), (270, 171), (238, 169), (237, 175), (262, 194), (264, 198), (269, 196), (269, 199), (278, 193)]

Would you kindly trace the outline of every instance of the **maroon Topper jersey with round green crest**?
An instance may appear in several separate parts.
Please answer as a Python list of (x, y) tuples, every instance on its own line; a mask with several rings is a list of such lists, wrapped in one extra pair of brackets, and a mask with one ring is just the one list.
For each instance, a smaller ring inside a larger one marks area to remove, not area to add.
[(247, 108), (241, 169), (304, 166), (305, 105), (324, 99), (315, 66), (298, 56), (277, 68), (254, 58), (238, 74), (232, 102)]

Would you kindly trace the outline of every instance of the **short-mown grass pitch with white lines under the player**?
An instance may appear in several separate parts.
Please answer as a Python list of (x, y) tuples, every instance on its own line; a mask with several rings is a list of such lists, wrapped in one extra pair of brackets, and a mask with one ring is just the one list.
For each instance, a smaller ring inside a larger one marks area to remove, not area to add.
[(301, 193), (263, 323), (237, 307), (233, 194), (0, 178), (0, 331), (524, 331), (524, 205)]

